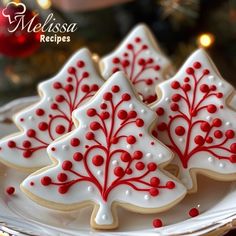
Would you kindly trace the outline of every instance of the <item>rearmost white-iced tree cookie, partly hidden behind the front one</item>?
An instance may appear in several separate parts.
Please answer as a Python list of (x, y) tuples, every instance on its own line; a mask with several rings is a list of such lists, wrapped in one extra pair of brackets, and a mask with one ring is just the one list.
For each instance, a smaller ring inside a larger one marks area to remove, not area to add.
[(146, 103), (157, 99), (156, 85), (172, 70), (145, 25), (134, 28), (114, 52), (102, 58), (100, 65), (105, 79), (117, 71), (124, 71)]

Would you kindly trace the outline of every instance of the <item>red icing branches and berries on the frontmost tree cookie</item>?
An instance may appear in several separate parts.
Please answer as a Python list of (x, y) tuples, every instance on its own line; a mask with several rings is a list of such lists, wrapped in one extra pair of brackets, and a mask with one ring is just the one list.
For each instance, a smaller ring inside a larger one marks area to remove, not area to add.
[[(91, 145), (88, 145), (83, 153), (75, 152), (73, 160), (63, 162), (62, 172), (57, 176), (58, 181), (52, 181), (49, 176), (43, 177), (41, 183), (44, 186), (59, 186), (59, 193), (65, 194), (78, 182), (87, 181), (96, 186), (104, 201), (107, 201), (110, 192), (119, 185), (130, 186), (135, 191), (147, 192), (153, 197), (158, 195), (159, 189), (173, 189), (175, 187), (172, 181), (168, 181), (164, 185), (161, 183), (155, 175), (157, 164), (154, 162), (145, 164), (142, 161), (143, 152), (138, 148), (132, 153), (122, 148), (115, 149), (115, 145), (121, 139), (125, 139), (127, 144), (136, 145), (137, 140), (134, 135), (121, 134), (122, 131), (127, 130), (128, 126), (133, 126), (134, 129), (144, 126), (144, 120), (138, 117), (135, 110), (120, 109), (122, 104), (130, 101), (131, 96), (128, 93), (122, 94), (120, 101), (114, 104), (113, 95), (119, 91), (119, 86), (113, 86), (111, 92), (103, 95), (104, 102), (100, 105), (99, 111), (97, 108), (89, 108), (86, 111), (88, 119), (94, 118), (94, 121), (89, 123), (90, 131), (83, 137), (86, 143)], [(105, 143), (102, 144), (101, 140), (105, 140)], [(82, 150), (79, 148), (79, 139), (72, 139), (70, 144), (72, 147), (78, 147), (78, 150)], [(103, 154), (97, 154), (101, 152)], [(114, 167), (111, 164), (114, 159), (121, 164)], [(74, 162), (79, 162), (83, 166), (82, 169), (85, 170), (86, 175), (82, 175), (76, 170), (78, 164), (74, 165)], [(103, 170), (102, 181), (96, 178), (99, 169)], [(67, 172), (73, 174), (74, 178), (68, 180)], [(131, 174), (132, 177), (130, 177)], [(148, 176), (150, 178), (146, 180)], [(113, 180), (112, 182), (108, 181), (110, 178)]]

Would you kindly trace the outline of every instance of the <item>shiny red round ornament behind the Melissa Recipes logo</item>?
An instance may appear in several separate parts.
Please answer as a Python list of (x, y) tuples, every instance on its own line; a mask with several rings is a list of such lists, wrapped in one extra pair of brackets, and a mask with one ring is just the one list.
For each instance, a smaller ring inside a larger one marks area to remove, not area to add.
[[(21, 21), (23, 17), (25, 24), (34, 17), (34, 13), (26, 9), (24, 14), (14, 18), (19, 7), (21, 6), (14, 7), (14, 5), (11, 4), (8, 5), (8, 9), (0, 8), (0, 53), (8, 57), (30, 56), (40, 46), (40, 36), (42, 35), (42, 32), (28, 32), (27, 27), (23, 30), (20, 26), (17, 27), (19, 21)], [(4, 16), (2, 13), (6, 10), (9, 17)], [(12, 18), (14, 18), (14, 21), (10, 23), (9, 20)], [(34, 17), (31, 28), (39, 23), (39, 16)], [(9, 32), (9, 29), (13, 30), (15, 28), (16, 30), (14, 32)]]

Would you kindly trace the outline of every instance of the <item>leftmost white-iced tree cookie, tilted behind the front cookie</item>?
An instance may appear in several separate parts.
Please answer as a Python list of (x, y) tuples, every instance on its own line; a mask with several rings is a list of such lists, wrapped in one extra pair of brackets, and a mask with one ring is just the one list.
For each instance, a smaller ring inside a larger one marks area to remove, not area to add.
[(81, 49), (55, 77), (39, 84), (40, 101), (14, 117), (21, 132), (1, 140), (0, 161), (26, 171), (51, 163), (46, 148), (74, 128), (73, 110), (102, 84), (90, 52)]

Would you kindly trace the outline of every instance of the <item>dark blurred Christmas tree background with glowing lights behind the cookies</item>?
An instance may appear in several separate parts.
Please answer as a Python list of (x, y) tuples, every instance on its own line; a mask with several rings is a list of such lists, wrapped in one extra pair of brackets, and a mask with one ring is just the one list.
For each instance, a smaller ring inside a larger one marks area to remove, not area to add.
[[(1, 0), (0, 12), (8, 0)], [(104, 55), (137, 23), (145, 22), (178, 68), (197, 47), (212, 56), (225, 79), (236, 85), (236, 0), (22, 0), (26, 17), (77, 23), (65, 43), (40, 43), (39, 33), (16, 31), (0, 13), (0, 104), (36, 94), (77, 49)], [(13, 9), (14, 11), (14, 9)], [(63, 35), (63, 34), (62, 34)]]

